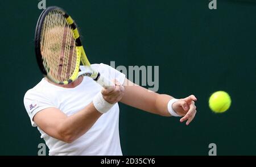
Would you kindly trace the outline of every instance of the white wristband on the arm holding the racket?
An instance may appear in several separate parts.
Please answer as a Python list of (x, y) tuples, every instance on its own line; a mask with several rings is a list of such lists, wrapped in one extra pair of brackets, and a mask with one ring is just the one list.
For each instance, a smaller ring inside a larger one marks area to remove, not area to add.
[(94, 98), (93, 98), (93, 105), (98, 110), (98, 112), (101, 112), (102, 114), (106, 113), (107, 111), (112, 108), (114, 104), (110, 104), (109, 102), (105, 101), (103, 98), (101, 92), (99, 92)]

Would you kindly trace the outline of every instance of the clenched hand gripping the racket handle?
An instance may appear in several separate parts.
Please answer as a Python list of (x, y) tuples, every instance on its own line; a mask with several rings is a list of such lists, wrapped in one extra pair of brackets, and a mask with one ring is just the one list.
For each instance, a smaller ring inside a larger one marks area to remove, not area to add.
[(123, 94), (125, 93), (125, 87), (121, 85), (117, 80), (113, 81), (115, 86), (109, 86), (108, 88), (102, 88), (101, 94), (105, 101), (114, 104), (119, 102)]

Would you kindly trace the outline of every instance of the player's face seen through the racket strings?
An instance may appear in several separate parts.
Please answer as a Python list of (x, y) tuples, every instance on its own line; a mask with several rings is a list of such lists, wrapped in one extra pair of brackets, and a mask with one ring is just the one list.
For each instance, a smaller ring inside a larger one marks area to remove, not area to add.
[[(43, 46), (43, 57), (47, 65), (51, 65), (51, 76), (60, 77), (61, 80), (69, 78), (75, 69), (76, 47), (72, 30), (68, 27), (55, 27), (46, 32)], [(53, 61), (55, 60), (55, 61)]]

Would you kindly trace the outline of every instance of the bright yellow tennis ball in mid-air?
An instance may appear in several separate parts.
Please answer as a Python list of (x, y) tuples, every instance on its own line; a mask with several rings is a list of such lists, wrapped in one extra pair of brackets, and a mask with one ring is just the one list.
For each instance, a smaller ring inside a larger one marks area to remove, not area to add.
[(221, 113), (228, 110), (231, 98), (225, 91), (216, 91), (209, 98), (209, 107), (213, 112)]

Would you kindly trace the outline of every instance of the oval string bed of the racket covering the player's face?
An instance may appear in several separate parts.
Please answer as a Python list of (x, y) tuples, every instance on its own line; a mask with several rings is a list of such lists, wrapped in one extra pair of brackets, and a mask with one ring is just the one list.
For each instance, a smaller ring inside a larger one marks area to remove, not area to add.
[(59, 11), (46, 16), (41, 34), (42, 59), (55, 81), (67, 81), (76, 68), (76, 47), (71, 26)]

